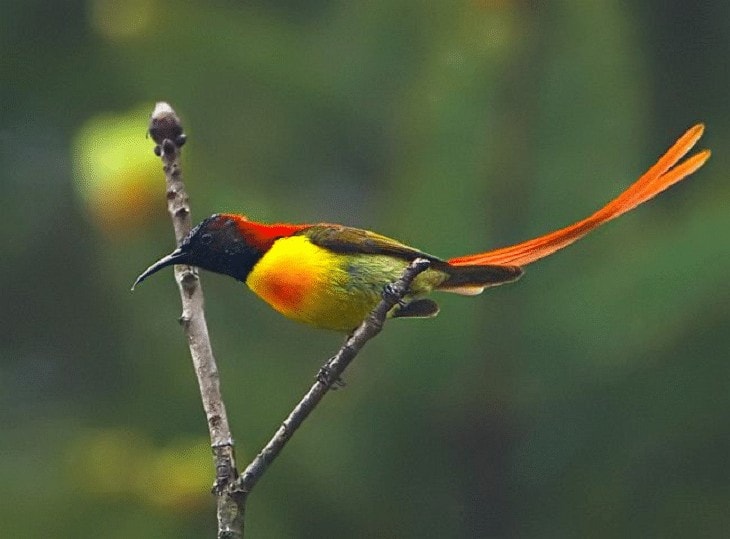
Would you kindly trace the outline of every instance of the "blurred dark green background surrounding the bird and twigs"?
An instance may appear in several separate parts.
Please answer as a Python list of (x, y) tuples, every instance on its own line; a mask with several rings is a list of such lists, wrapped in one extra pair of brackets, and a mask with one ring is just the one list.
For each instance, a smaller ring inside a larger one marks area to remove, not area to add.
[[(251, 537), (727, 537), (730, 3), (3, 2), (0, 535), (211, 537), (207, 431), (145, 138), (194, 220), (442, 256), (564, 226), (687, 127), (689, 181), (371, 342), (257, 487)], [(293, 268), (293, 270), (295, 270)], [(203, 275), (245, 463), (341, 337)]]

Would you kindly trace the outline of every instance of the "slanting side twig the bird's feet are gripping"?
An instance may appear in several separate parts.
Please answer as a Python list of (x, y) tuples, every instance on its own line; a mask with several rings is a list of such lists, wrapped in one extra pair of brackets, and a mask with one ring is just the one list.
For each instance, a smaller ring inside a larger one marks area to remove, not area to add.
[(256, 455), (236, 482), (231, 491), (240, 494), (244, 499), (250, 494), (253, 487), (261, 479), (269, 465), (281, 453), (289, 439), (294, 435), (302, 422), (314, 410), (333, 384), (337, 384), (347, 366), (355, 359), (365, 343), (375, 337), (383, 329), (383, 323), (388, 312), (401, 301), (418, 274), (428, 269), (430, 262), (424, 258), (417, 258), (406, 268), (403, 275), (392, 284), (385, 287), (383, 299), (355, 332), (348, 337), (345, 344), (332, 357), (317, 375), (317, 381), (294, 407), (284, 420), (271, 440)]

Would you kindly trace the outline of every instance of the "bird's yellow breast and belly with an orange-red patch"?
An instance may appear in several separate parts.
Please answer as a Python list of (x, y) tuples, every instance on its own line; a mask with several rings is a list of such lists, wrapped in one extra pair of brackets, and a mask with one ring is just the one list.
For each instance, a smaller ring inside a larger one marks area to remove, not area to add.
[[(305, 236), (277, 240), (249, 273), (246, 284), (284, 316), (325, 329), (351, 331), (378, 304), (383, 286), (397, 279), (406, 262), (385, 255), (338, 254)], [(444, 279), (427, 271), (416, 293)]]

